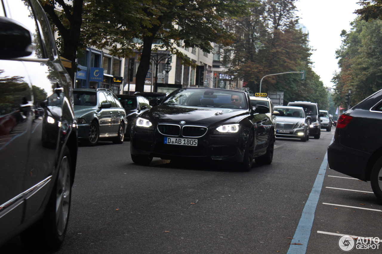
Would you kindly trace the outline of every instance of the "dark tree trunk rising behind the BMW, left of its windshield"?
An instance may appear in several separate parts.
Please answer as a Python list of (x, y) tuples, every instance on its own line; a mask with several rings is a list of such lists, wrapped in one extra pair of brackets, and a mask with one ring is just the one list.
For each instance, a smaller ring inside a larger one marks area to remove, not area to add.
[[(144, 82), (146, 80), (147, 72), (150, 68), (151, 46), (154, 42), (154, 36), (155, 33), (153, 33), (151, 36), (143, 37), (141, 61), (139, 61), (139, 66), (135, 76), (135, 92), (143, 92)], [(153, 75), (153, 73), (151, 75)]]

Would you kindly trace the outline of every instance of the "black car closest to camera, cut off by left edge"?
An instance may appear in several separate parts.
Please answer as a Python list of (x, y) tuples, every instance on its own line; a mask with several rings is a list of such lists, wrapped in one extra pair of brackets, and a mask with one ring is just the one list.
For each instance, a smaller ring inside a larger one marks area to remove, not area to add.
[(72, 81), (39, 1), (0, 0), (0, 34), (0, 245), (56, 249), (77, 160)]

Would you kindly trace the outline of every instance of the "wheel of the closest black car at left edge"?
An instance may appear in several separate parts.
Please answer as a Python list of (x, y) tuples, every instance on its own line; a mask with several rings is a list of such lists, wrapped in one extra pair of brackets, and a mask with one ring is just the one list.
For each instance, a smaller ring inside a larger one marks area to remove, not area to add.
[(20, 235), (26, 246), (54, 250), (65, 240), (71, 204), (71, 165), (70, 152), (65, 146), (43, 217)]

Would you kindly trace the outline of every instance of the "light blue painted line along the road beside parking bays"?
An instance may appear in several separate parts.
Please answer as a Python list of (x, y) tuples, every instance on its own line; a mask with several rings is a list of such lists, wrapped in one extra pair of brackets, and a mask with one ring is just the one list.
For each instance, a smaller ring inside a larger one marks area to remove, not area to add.
[[(330, 142), (330, 144), (333, 142)], [(309, 194), (308, 201), (304, 206), (303, 213), (301, 214), (300, 221), (293, 236), (293, 240), (289, 246), (288, 252), (286, 254), (305, 254), (306, 248), (308, 247), (309, 237), (312, 231), (314, 213), (316, 212), (316, 207), (318, 199), (320, 198), (322, 183), (324, 182), (325, 171), (328, 165), (328, 152), (325, 153), (324, 160), (318, 171), (316, 181), (314, 182), (311, 193)], [(295, 243), (295, 244), (294, 244)]]

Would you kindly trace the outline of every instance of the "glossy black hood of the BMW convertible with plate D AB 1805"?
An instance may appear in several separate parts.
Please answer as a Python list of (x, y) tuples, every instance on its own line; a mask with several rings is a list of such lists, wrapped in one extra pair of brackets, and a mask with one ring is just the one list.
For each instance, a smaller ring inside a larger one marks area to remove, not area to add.
[(180, 121), (185, 121), (186, 125), (193, 122), (206, 126), (225, 121), (238, 122), (248, 114), (248, 110), (240, 109), (159, 105), (142, 113), (142, 117), (157, 123), (173, 122), (179, 124)]

